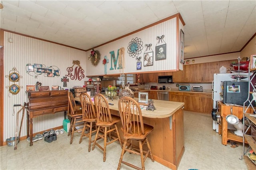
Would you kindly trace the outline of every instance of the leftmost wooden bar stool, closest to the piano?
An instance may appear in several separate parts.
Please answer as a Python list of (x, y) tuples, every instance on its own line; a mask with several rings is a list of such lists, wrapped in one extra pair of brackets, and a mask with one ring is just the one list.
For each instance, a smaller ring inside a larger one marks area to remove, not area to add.
[(82, 106), (76, 105), (72, 92), (68, 92), (68, 116), (71, 117), (68, 136), (71, 134), (70, 144), (72, 144), (74, 132), (81, 131), (76, 127), (84, 125), (84, 121), (82, 121)]

